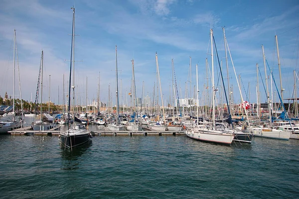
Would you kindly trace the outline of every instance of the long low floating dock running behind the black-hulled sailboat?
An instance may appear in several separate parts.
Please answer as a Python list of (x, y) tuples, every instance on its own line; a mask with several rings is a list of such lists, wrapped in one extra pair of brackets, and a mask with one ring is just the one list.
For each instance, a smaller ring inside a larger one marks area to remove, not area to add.
[[(47, 135), (52, 136), (56, 135), (58, 136), (60, 133), (60, 127), (57, 126), (55, 128), (49, 129), (49, 130), (32, 130), (31, 126), (23, 127), (23, 128), (17, 128), (11, 131), (8, 131), (8, 134), (10, 135)], [(118, 136), (118, 135), (126, 135), (126, 136), (134, 136), (134, 135), (184, 135), (184, 131), (156, 131), (149, 129), (147, 127), (143, 127), (143, 130), (140, 131), (110, 131), (107, 127), (102, 126), (99, 130), (91, 130), (90, 131), (93, 136)]]

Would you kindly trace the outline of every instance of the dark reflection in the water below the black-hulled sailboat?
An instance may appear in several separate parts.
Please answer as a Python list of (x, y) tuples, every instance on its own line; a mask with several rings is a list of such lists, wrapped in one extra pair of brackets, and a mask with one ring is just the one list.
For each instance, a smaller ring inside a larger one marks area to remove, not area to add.
[(86, 159), (86, 154), (88, 149), (92, 146), (92, 141), (74, 147), (73, 150), (60, 146), (61, 148), (61, 158), (62, 158), (62, 170), (75, 170), (81, 168), (82, 162)]

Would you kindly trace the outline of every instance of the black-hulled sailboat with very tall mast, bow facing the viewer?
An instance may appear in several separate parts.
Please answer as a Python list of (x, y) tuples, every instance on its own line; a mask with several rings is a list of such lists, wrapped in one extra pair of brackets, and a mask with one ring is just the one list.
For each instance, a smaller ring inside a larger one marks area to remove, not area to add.
[[(71, 64), (70, 64), (70, 79), (69, 79), (69, 90), (68, 90), (68, 118), (70, 117), (70, 107), (71, 107), (71, 88), (73, 89), (73, 95), (75, 95), (75, 86), (71, 86), (71, 74), (72, 74), (72, 61), (73, 61), (73, 68), (74, 68), (74, 36), (75, 36), (75, 8), (71, 7), (73, 10), (73, 28), (72, 28), (72, 44), (71, 44)], [(74, 75), (73, 69), (73, 75)], [(75, 77), (75, 75), (74, 75)], [(73, 77), (73, 84), (75, 85), (75, 80)], [(73, 104), (75, 101), (73, 100)], [(59, 133), (60, 142), (63, 144), (64, 148), (71, 148), (82, 145), (89, 141), (89, 138), (92, 137), (90, 131), (86, 128), (86, 126), (81, 124), (81, 120), (75, 117), (75, 106), (73, 105), (73, 126), (68, 128), (65, 131)], [(78, 123), (76, 123), (78, 122)]]

